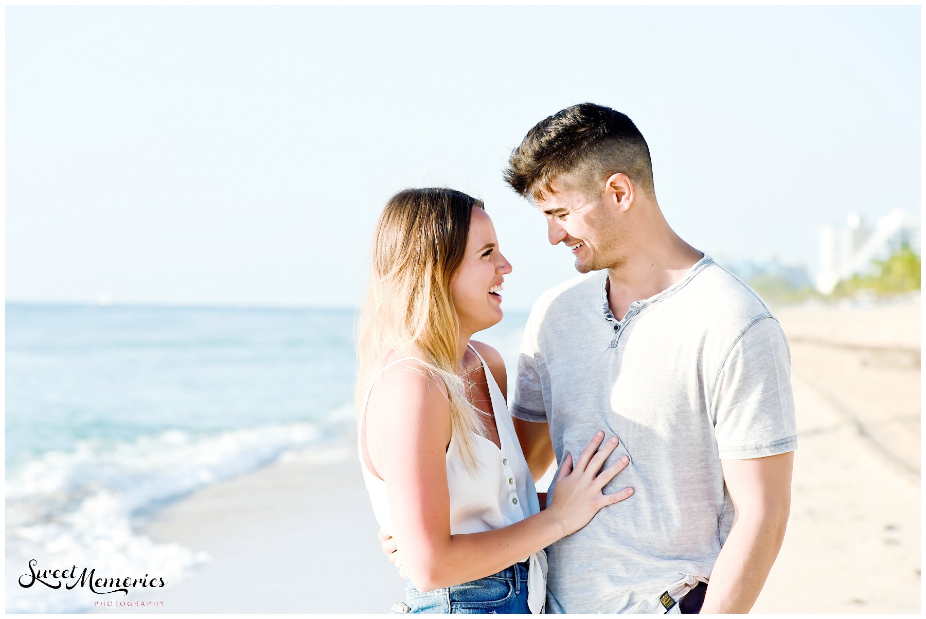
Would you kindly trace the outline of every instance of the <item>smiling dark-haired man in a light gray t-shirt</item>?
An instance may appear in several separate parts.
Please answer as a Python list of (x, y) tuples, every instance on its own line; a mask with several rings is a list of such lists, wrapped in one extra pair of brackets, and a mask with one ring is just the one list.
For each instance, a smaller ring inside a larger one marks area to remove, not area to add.
[(782, 328), (669, 228), (623, 114), (581, 104), (545, 118), (505, 178), (591, 272), (545, 292), (525, 331), (511, 413), (532, 473), (604, 429), (620, 439), (606, 466), (631, 458), (612, 491), (636, 490), (547, 549), (546, 612), (748, 612), (790, 509)]

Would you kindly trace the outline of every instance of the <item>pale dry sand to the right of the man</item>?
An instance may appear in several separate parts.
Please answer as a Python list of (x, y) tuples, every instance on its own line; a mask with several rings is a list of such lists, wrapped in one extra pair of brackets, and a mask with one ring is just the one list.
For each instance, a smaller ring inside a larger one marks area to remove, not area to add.
[(920, 297), (776, 312), (798, 449), (754, 613), (920, 613)]

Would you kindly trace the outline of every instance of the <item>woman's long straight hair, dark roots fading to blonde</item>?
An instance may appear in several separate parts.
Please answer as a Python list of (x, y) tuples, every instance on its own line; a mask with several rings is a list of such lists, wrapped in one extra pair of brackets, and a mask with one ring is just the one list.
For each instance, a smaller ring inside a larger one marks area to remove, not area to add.
[(429, 187), (398, 192), (382, 209), (357, 328), (355, 390), (359, 414), (378, 361), (393, 353), (419, 359), (421, 371), (446, 386), (450, 429), (470, 471), (473, 433), (484, 429), (457, 375), (459, 320), (450, 282), (466, 254), (473, 206), (484, 208), (466, 193)]

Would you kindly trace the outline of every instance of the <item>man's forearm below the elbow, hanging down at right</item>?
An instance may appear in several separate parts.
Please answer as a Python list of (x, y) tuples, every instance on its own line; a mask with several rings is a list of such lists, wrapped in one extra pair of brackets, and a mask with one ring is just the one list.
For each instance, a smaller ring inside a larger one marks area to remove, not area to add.
[(710, 574), (701, 613), (748, 613), (782, 548), (787, 513), (737, 514)]

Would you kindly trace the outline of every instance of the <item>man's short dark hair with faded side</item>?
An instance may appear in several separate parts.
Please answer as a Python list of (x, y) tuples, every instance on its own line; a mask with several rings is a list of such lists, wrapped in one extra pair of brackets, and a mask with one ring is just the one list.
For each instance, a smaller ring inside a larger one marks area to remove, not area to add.
[(552, 183), (569, 176), (583, 193), (600, 192), (612, 174), (626, 174), (651, 198), (653, 162), (643, 134), (626, 114), (604, 105), (569, 105), (544, 118), (511, 152), (505, 180), (522, 197), (548, 197)]

